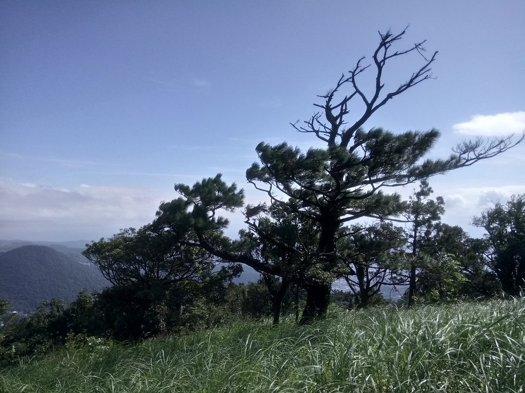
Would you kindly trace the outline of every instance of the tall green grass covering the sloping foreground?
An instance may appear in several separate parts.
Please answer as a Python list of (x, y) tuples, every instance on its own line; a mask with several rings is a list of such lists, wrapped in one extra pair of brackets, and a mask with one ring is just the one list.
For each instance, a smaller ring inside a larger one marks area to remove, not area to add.
[(0, 372), (0, 392), (518, 392), (525, 300), (333, 312), (138, 345), (70, 346)]

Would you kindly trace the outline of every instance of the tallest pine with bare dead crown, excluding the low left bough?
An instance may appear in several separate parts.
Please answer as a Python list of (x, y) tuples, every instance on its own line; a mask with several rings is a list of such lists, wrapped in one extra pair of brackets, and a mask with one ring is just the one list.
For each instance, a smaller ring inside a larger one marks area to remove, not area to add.
[[(525, 137), (524, 134), (518, 141), (511, 137), (465, 141), (456, 146), (455, 154), (447, 159), (423, 160), (439, 137), (436, 129), (394, 134), (383, 128), (372, 128), (365, 132), (362, 126), (379, 108), (432, 77), (430, 65), (437, 52), (426, 58), (425, 41), (408, 49), (393, 49), (405, 32), (406, 29), (397, 35), (390, 30), (380, 33), (380, 43), (372, 56), (375, 86), (371, 95), (366, 95), (358, 83), (359, 75), (371, 67), (371, 64), (362, 64), (363, 57), (341, 76), (333, 89), (320, 96), (324, 103), (314, 105), (321, 111), (302, 126), (293, 124), (301, 133), (314, 134), (326, 144), (324, 148), (311, 148), (303, 154), (286, 143), (276, 146), (260, 143), (256, 148), (260, 163), (254, 163), (246, 172), (248, 181), (264, 191), (272, 203), (288, 204), (296, 213), (319, 225), (318, 257), (323, 268), (321, 274), (306, 278), (305, 322), (322, 318), (327, 311), (331, 290), (329, 273), (338, 266), (339, 228), (361, 217), (384, 219), (400, 213), (399, 196), (383, 190), (470, 166), (508, 150)], [(421, 55), (421, 67), (397, 89), (385, 93), (382, 77), (387, 63), (413, 53)], [(346, 88), (348, 93), (337, 99)], [(361, 103), (360, 111), (351, 111), (350, 104), (354, 101)]]

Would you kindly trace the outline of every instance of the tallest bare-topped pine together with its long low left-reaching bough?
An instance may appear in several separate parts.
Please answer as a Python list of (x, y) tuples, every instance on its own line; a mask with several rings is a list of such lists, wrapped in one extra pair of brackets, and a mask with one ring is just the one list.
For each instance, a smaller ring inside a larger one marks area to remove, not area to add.
[[(425, 159), (439, 138), (437, 129), (393, 133), (385, 128), (365, 130), (373, 114), (397, 96), (432, 79), (432, 64), (437, 51), (426, 56), (425, 41), (406, 48), (400, 44), (406, 29), (399, 34), (388, 30), (380, 33), (379, 45), (371, 61), (365, 57), (343, 73), (333, 89), (319, 96), (314, 104), (319, 111), (302, 124), (292, 126), (300, 133), (312, 134), (324, 147), (302, 152), (281, 143), (275, 146), (261, 142), (257, 148), (259, 162), (246, 171), (246, 178), (263, 192), (272, 205), (286, 206), (316, 227), (316, 257), (305, 269), (303, 288), (307, 292), (302, 321), (323, 318), (328, 309), (332, 282), (341, 265), (338, 238), (341, 228), (361, 217), (388, 219), (403, 209), (400, 196), (390, 190), (427, 179), (435, 174), (473, 165), (494, 157), (520, 143), (512, 136), (492, 140), (464, 141), (445, 159)], [(385, 90), (384, 72), (396, 60), (415, 56), (421, 63), (408, 72), (396, 89)], [(373, 70), (375, 83), (361, 87), (360, 75)], [(204, 179), (193, 187), (175, 185), (182, 196), (160, 206), (156, 222), (170, 226), (173, 220), (191, 222), (201, 246), (209, 252), (252, 266), (268, 274), (280, 272), (220, 235), (228, 222), (218, 214), (243, 206), (244, 192), (235, 184), (228, 186), (220, 176)], [(264, 205), (247, 210), (248, 223)], [(259, 210), (258, 210), (259, 209)], [(269, 235), (269, 234), (268, 234)], [(278, 239), (276, 239), (278, 241)]]

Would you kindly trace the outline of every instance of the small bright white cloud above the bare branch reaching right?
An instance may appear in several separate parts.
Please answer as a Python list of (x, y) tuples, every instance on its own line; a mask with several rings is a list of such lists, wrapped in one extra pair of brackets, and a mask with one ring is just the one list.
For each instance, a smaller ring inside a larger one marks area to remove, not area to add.
[(472, 116), (469, 122), (452, 126), (456, 132), (477, 136), (505, 136), (525, 130), (525, 112)]

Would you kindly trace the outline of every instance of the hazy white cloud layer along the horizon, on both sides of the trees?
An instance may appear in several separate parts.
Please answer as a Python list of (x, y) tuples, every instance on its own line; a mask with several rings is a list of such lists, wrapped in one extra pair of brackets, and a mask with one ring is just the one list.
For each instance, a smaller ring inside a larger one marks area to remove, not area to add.
[[(246, 190), (246, 203), (265, 201), (264, 193)], [(409, 187), (397, 190), (408, 198)], [(445, 199), (442, 221), (460, 225), (472, 236), (480, 237), (482, 229), (469, 225), (473, 216), (493, 206), (505, 203), (512, 194), (525, 193), (525, 185), (505, 187), (456, 188), (437, 187), (433, 196)], [(120, 228), (140, 227), (154, 219), (163, 200), (176, 198), (172, 191), (131, 187), (57, 188), (39, 184), (0, 183), (0, 239), (41, 241), (96, 240), (117, 233)], [(236, 237), (245, 228), (240, 212), (222, 212), (230, 220), (226, 234)], [(371, 220), (365, 220), (371, 221)]]

